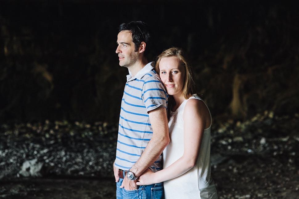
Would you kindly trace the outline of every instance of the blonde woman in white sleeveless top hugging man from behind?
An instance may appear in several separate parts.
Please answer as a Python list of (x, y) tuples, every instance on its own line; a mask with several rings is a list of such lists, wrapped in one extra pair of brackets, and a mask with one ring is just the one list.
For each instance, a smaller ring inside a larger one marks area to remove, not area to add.
[(211, 178), (211, 114), (196, 95), (190, 65), (182, 50), (172, 47), (158, 56), (155, 70), (170, 95), (170, 143), (163, 151), (163, 169), (147, 169), (136, 184), (164, 181), (166, 199), (218, 198)]

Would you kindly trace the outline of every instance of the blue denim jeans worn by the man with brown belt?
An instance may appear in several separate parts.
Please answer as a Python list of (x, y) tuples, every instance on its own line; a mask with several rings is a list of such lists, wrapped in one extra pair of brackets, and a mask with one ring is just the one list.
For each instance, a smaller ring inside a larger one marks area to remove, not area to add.
[(120, 178), (116, 183), (117, 199), (164, 199), (163, 182), (154, 185), (138, 186), (136, 190), (125, 190), (120, 188), (124, 179)]

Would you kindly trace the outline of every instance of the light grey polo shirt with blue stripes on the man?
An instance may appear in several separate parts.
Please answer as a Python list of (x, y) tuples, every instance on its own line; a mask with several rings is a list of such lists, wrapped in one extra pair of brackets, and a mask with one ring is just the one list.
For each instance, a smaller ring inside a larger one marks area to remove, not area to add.
[[(148, 112), (158, 107), (167, 108), (168, 95), (148, 63), (133, 78), (127, 75), (127, 83), (121, 102), (115, 166), (129, 170), (139, 159), (152, 138), (153, 129)], [(150, 166), (156, 172), (162, 169), (162, 155)]]

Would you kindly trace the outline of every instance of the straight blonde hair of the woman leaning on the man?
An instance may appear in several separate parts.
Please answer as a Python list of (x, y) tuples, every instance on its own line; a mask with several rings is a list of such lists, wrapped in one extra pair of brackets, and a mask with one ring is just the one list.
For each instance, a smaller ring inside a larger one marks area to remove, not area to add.
[(195, 88), (195, 83), (193, 81), (190, 64), (187, 61), (186, 55), (182, 51), (181, 48), (171, 47), (171, 48), (163, 51), (160, 55), (158, 55), (156, 66), (155, 66), (155, 71), (157, 72), (157, 74), (160, 74), (159, 64), (160, 64), (161, 59), (165, 58), (165, 57), (172, 57), (172, 56), (180, 59), (182, 66), (185, 67), (186, 76), (185, 76), (185, 82), (184, 82), (184, 86), (183, 86), (183, 95), (184, 95), (185, 99), (188, 99), (191, 95), (196, 94), (197, 92), (196, 92), (196, 88)]

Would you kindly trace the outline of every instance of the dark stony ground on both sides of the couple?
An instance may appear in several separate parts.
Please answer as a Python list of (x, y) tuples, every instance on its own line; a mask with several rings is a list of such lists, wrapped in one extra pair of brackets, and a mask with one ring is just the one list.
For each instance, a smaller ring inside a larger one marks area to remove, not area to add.
[[(214, 120), (212, 177), (220, 199), (299, 198), (299, 115)], [(0, 126), (0, 198), (115, 198), (117, 124)]]

